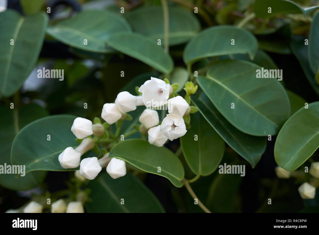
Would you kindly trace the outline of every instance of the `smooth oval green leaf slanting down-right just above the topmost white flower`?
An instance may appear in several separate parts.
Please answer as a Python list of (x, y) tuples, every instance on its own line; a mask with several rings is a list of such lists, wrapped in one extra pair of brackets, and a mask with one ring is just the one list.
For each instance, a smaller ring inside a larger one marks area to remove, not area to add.
[(171, 56), (157, 45), (156, 40), (138, 33), (122, 32), (111, 35), (107, 41), (110, 47), (140, 60), (162, 73), (170, 73), (173, 70), (174, 62)]

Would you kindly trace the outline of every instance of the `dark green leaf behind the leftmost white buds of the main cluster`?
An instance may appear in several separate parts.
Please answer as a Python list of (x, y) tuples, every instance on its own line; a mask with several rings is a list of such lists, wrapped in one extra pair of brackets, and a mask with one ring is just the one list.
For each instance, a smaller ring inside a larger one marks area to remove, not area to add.
[[(53, 115), (25, 126), (13, 140), (12, 164), (26, 165), (26, 172), (74, 170), (64, 169), (58, 157), (67, 147), (78, 146), (71, 132), (75, 118), (77, 117), (72, 115)], [(47, 135), (50, 135), (50, 141), (47, 140)]]

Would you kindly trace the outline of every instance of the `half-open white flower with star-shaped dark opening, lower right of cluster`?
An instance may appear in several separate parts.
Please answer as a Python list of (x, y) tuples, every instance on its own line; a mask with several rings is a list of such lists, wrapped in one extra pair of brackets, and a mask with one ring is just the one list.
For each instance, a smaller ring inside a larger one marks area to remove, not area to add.
[(184, 119), (171, 114), (167, 114), (163, 119), (160, 130), (170, 141), (185, 135), (187, 132)]

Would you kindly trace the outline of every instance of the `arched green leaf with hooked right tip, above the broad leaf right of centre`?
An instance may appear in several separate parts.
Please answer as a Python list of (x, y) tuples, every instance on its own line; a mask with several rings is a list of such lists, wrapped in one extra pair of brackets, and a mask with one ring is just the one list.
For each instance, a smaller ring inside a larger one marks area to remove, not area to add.
[[(231, 45), (234, 39), (235, 45)], [(235, 26), (214, 26), (205, 29), (186, 45), (183, 60), (188, 66), (206, 57), (249, 54), (257, 52), (258, 43), (253, 34)]]

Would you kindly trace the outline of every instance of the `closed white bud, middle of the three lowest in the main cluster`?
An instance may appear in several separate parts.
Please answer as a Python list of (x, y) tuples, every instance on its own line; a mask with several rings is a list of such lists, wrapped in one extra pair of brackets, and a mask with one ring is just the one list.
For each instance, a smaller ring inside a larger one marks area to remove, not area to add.
[(97, 157), (84, 158), (80, 163), (80, 175), (88, 180), (94, 180), (101, 170)]

